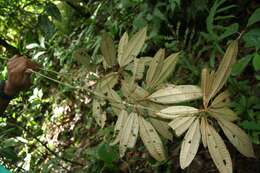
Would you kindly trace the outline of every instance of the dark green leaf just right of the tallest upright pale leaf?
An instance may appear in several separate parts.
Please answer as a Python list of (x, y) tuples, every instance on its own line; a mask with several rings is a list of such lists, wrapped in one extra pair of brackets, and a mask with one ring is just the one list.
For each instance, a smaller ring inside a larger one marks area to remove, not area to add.
[(246, 68), (246, 66), (248, 65), (251, 59), (252, 59), (252, 55), (246, 55), (245, 57), (238, 60), (232, 67), (231, 75), (232, 76), (240, 75), (244, 71), (244, 69)]

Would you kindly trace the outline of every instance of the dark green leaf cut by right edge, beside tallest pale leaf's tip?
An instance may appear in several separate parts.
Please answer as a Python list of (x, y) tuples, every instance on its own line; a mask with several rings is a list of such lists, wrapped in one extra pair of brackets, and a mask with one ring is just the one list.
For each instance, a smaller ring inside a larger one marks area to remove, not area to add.
[(251, 29), (244, 34), (243, 40), (246, 47), (260, 48), (260, 28)]

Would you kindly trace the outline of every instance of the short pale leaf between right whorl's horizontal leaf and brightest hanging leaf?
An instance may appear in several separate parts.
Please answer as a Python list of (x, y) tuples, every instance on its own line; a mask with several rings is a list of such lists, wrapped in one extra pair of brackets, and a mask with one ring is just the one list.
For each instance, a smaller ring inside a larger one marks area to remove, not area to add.
[(177, 136), (181, 136), (188, 130), (195, 118), (195, 116), (177, 117), (174, 118), (168, 125), (174, 130)]

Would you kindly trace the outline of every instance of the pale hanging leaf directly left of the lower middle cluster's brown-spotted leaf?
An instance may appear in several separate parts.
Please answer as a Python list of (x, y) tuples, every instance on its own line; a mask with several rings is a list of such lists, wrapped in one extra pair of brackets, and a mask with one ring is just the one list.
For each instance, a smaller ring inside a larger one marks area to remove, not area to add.
[(138, 115), (136, 113), (130, 113), (127, 121), (122, 129), (120, 136), (119, 152), (120, 156), (123, 157), (127, 148), (133, 148), (139, 131)]

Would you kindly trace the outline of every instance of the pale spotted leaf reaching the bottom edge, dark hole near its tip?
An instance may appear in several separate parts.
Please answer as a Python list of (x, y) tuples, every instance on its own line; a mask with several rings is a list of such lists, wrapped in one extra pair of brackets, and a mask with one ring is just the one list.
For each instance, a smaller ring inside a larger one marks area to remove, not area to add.
[(209, 153), (221, 173), (232, 173), (232, 161), (224, 141), (216, 130), (208, 125), (207, 144)]

